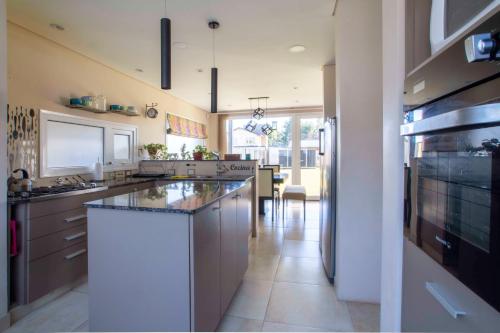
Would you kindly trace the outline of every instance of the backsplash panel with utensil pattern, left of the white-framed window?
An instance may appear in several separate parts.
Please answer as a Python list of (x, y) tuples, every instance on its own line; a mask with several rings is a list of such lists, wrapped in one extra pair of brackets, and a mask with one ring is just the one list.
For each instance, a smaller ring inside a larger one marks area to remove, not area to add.
[(39, 110), (7, 105), (7, 171), (23, 168), (38, 177)]

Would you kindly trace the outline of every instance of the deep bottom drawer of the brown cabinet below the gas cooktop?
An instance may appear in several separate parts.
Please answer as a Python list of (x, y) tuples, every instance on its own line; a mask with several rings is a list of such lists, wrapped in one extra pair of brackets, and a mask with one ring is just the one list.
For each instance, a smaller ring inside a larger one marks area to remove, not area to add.
[(32, 261), (28, 266), (28, 302), (87, 274), (87, 243)]

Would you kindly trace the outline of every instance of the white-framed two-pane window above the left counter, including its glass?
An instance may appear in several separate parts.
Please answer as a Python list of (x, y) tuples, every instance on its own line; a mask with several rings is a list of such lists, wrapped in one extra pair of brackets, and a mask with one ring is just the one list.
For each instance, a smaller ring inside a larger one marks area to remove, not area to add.
[(137, 128), (57, 112), (40, 112), (40, 177), (135, 168)]

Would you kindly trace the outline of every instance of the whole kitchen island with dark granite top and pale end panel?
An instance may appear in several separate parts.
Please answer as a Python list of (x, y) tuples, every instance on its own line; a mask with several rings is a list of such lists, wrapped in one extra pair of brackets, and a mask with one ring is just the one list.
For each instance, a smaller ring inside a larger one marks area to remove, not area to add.
[(86, 203), (92, 331), (214, 331), (248, 267), (252, 178)]

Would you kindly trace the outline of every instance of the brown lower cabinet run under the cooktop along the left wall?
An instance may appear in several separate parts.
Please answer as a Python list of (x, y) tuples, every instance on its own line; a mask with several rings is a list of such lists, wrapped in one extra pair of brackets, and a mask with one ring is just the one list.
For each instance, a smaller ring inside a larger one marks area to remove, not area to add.
[(11, 307), (29, 304), (87, 274), (87, 209), (83, 203), (153, 184), (120, 186), (14, 206), (19, 255), (11, 260)]

